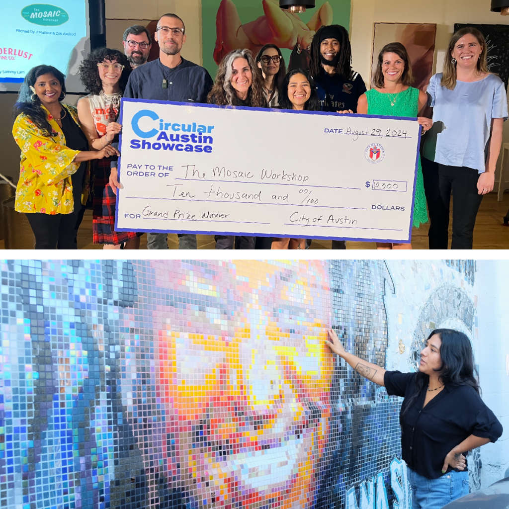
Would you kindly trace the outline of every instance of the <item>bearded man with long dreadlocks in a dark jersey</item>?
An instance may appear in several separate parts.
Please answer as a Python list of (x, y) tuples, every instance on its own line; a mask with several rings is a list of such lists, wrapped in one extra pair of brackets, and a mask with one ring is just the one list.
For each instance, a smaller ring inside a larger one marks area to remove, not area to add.
[(352, 48), (341, 25), (322, 26), (311, 43), (309, 70), (315, 78), (323, 111), (355, 113), (366, 91), (364, 80), (352, 71)]

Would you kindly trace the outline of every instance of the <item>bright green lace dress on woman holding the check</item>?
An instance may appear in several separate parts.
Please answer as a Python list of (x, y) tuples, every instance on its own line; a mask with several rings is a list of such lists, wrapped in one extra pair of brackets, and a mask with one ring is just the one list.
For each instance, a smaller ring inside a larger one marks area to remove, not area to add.
[[(394, 106), (391, 106), (389, 94), (383, 94), (375, 89), (366, 92), (367, 114), (382, 115), (384, 117), (417, 117), (419, 112), (419, 90), (409, 87), (400, 92), (398, 96), (392, 94), (395, 99)], [(424, 193), (424, 182), (422, 180), (422, 168), (419, 164), (417, 168), (417, 182), (415, 185), (415, 201), (413, 213), (413, 225), (419, 228), (421, 223), (428, 222), (428, 212), (426, 210), (426, 195)]]

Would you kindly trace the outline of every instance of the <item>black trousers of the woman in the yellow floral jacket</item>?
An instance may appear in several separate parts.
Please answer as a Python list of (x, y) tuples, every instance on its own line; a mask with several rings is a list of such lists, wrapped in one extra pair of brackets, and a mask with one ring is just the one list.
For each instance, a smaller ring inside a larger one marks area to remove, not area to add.
[[(77, 209), (77, 210), (76, 210)], [(77, 249), (78, 228), (84, 207), (79, 201), (71, 214), (26, 214), (35, 235), (36, 249)]]

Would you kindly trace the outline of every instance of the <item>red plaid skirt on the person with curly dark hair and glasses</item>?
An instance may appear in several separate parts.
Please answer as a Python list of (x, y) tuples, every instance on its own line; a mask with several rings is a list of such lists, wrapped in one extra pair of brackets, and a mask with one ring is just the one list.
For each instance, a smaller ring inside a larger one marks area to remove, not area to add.
[(115, 231), (115, 205), (117, 196), (109, 186), (109, 159), (101, 159), (95, 166), (93, 180), (93, 232), (94, 244), (122, 244), (136, 238), (136, 232)]

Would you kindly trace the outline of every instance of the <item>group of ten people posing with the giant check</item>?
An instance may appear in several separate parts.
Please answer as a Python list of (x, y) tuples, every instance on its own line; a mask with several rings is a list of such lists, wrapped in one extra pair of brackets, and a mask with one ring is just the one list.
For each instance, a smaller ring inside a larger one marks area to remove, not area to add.
[[(118, 123), (122, 97), (258, 108), (414, 117), (422, 126), (415, 182), (413, 226), (428, 222), (431, 249), (447, 249), (449, 202), (454, 194), (453, 249), (471, 249), (483, 196), (493, 190), (496, 161), (507, 119), (504, 84), (488, 72), (483, 35), (473, 27), (451, 38), (442, 73), (427, 93), (413, 88), (411, 62), (401, 43), (378, 55), (373, 88), (352, 69), (346, 29), (322, 26), (310, 46), (309, 69), (287, 72), (280, 49), (263, 46), (254, 56), (233, 50), (219, 64), (215, 82), (207, 70), (182, 58), (185, 25), (163, 15), (154, 38), (159, 59), (147, 63), (152, 37), (140, 25), (124, 33), (124, 53), (92, 51), (80, 73), (89, 95), (77, 108), (63, 103), (65, 76), (51, 66), (27, 73), (15, 104), (13, 135), (21, 149), (16, 210), (26, 213), (36, 249), (75, 249), (84, 210), (93, 209), (94, 243), (136, 249), (140, 233), (115, 231)], [(332, 149), (333, 150), (333, 149)], [(338, 154), (338, 158), (341, 154)], [(428, 207), (426, 206), (428, 205)], [(217, 249), (304, 249), (294, 238), (216, 235)], [(380, 249), (411, 244), (377, 243)], [(148, 233), (149, 249), (167, 249), (167, 235)], [(196, 249), (196, 235), (179, 234), (179, 249)], [(345, 249), (345, 241), (332, 241)]]

